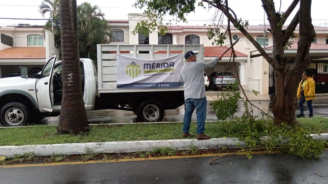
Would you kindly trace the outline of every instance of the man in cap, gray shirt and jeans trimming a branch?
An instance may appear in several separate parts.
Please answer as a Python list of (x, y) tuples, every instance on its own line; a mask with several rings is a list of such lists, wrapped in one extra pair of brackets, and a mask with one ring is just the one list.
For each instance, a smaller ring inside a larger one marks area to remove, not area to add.
[(213, 61), (205, 63), (202, 61), (196, 61), (197, 53), (188, 51), (185, 54), (187, 63), (182, 67), (179, 81), (183, 83), (184, 98), (185, 98), (185, 115), (183, 117), (182, 136), (193, 137), (189, 133), (191, 116), (196, 108), (197, 115), (197, 140), (210, 139), (211, 136), (204, 134), (205, 120), (206, 120), (206, 105), (207, 100), (205, 96), (205, 84), (204, 84), (204, 69), (212, 68), (222, 58), (217, 57)]

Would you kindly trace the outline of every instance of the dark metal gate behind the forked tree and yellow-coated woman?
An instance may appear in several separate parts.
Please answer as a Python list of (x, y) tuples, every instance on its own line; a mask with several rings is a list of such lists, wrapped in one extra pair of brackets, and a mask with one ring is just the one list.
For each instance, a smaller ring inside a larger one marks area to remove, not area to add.
[[(287, 63), (286, 70), (291, 70), (294, 63)], [(328, 61), (312, 61), (307, 72), (316, 81), (316, 93), (328, 93)], [(275, 71), (269, 64), (269, 95), (276, 93)]]

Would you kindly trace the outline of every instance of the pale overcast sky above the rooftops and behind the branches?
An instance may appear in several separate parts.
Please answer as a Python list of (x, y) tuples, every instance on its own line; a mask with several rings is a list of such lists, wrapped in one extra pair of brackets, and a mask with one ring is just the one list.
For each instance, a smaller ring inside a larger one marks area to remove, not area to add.
[[(128, 13), (142, 13), (140, 9), (135, 9), (132, 5), (136, 0), (86, 0), (92, 5), (98, 5), (102, 12), (105, 13), (107, 20), (128, 20)], [(198, 0), (199, 1), (199, 0)], [(42, 19), (42, 15), (38, 12), (38, 6), (41, 0), (11, 0), (0, 1), (0, 18), (29, 18), (29, 19)], [(77, 0), (77, 4), (81, 4), (84, 0)], [(275, 0), (276, 10), (279, 10), (280, 1)], [(283, 0), (281, 11), (285, 11), (292, 0)], [(205, 3), (204, 3), (205, 4)], [(10, 5), (10, 6), (7, 6)], [(229, 0), (229, 6), (236, 12), (238, 18), (242, 20), (249, 20), (250, 25), (263, 25), (263, 8), (261, 7), (260, 0)], [(325, 26), (328, 23), (328, 1), (327, 0), (312, 0), (312, 23), (315, 26)], [(287, 19), (286, 24), (294, 17), (296, 10)], [(195, 13), (187, 16), (188, 23), (177, 23), (175, 25), (209, 25), (212, 23), (211, 19), (215, 9), (203, 9), (197, 7)], [(46, 14), (46, 18), (49, 14)], [(170, 20), (170, 17), (165, 19)], [(171, 18), (172, 19), (172, 18)], [(44, 20), (5, 20), (0, 19), (0, 26), (9, 26), (17, 24), (31, 24), (31, 25), (44, 25)], [(224, 24), (227, 24), (226, 21)], [(266, 24), (268, 21), (266, 20)]]

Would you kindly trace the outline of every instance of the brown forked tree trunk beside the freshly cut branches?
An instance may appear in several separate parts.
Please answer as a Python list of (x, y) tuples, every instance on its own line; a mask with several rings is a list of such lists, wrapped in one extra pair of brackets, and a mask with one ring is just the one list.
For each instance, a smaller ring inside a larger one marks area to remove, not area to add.
[[(279, 123), (287, 122), (289, 125), (293, 126), (297, 122), (295, 119), (295, 111), (297, 106), (296, 93), (298, 83), (302, 73), (311, 63), (309, 51), (311, 42), (315, 37), (316, 32), (314, 31), (311, 19), (311, 0), (300, 0), (299, 40), (294, 66), (290, 73), (286, 73), (285, 63), (287, 60), (281, 59), (280, 61), (280, 57), (277, 56), (277, 64), (273, 66), (275, 69), (276, 94), (270, 96), (270, 109), (274, 118)], [(273, 50), (273, 53), (278, 52)], [(283, 58), (283, 55), (281, 58)]]

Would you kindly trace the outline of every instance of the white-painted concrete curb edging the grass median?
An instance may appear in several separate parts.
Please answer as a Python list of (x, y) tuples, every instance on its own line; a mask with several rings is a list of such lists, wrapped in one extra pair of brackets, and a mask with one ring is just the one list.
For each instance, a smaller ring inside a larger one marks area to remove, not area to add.
[[(328, 133), (311, 134), (314, 139), (328, 141)], [(130, 153), (140, 151), (152, 151), (154, 148), (170, 147), (172, 149), (186, 150), (190, 146), (198, 149), (217, 149), (223, 146), (229, 148), (244, 146), (243, 141), (237, 138), (212, 138), (209, 140), (196, 139), (172, 139), (172, 140), (141, 140), (141, 141), (114, 141), (114, 142), (88, 142), (68, 144), (41, 144), (23, 146), (0, 146), (0, 156), (12, 157), (15, 154), (34, 152), (36, 156), (51, 155), (82, 155), (87, 154), (88, 149), (95, 153)]]

